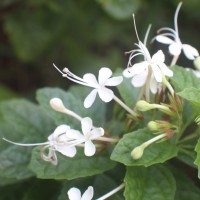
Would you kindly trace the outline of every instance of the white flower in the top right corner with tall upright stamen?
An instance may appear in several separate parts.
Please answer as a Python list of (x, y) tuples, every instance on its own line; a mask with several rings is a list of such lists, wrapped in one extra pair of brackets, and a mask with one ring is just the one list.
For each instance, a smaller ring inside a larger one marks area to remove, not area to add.
[(168, 44), (169, 52), (173, 56), (179, 56), (181, 53), (181, 50), (183, 50), (185, 56), (189, 60), (194, 60), (197, 56), (199, 56), (199, 52), (197, 51), (197, 49), (195, 49), (191, 45), (183, 44), (179, 37), (177, 19), (178, 19), (178, 12), (180, 10), (181, 5), (182, 5), (182, 2), (178, 4), (178, 7), (175, 12), (174, 29), (167, 28), (167, 27), (159, 29), (158, 33), (163, 32), (163, 31), (167, 31), (167, 32), (159, 34), (158, 36), (155, 37), (155, 39), (160, 43)]

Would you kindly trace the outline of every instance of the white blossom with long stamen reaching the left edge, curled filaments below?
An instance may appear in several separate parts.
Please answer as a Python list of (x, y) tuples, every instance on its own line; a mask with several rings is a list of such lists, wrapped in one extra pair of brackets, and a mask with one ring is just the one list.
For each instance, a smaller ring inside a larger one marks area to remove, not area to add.
[[(60, 152), (64, 156), (74, 157), (76, 154), (75, 145), (71, 145), (70, 139), (67, 137), (67, 133), (75, 132), (67, 125), (58, 126), (55, 131), (48, 137), (47, 142), (43, 143), (33, 143), (33, 144), (22, 144), (12, 142), (3, 138), (5, 141), (19, 146), (43, 146), (41, 150), (41, 157), (43, 160), (51, 162), (52, 164), (57, 164), (56, 151)], [(46, 155), (45, 151), (48, 149), (48, 154)]]

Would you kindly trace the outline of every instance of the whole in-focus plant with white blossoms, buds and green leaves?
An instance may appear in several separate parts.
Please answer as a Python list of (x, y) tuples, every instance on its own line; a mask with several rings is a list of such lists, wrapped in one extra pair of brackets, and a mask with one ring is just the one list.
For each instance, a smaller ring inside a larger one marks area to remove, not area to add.
[[(198, 70), (177, 65), (183, 50), (198, 68), (199, 53), (180, 40), (180, 7), (181, 3), (175, 12), (175, 29), (161, 28), (153, 38), (169, 45), (171, 64), (165, 63), (162, 50), (150, 55), (150, 27), (142, 42), (133, 15), (138, 41), (129, 52), (127, 68), (113, 73), (102, 67), (98, 78), (91, 73), (81, 78), (54, 64), (64, 78), (80, 86), (68, 92), (40, 89), (40, 106), (23, 100), (16, 110), (19, 101), (2, 103), (2, 122), (15, 132), (12, 135), (2, 126), (4, 182), (34, 175), (55, 179), (62, 184), (56, 199), (178, 200), (192, 195), (199, 199), (200, 189), (179, 169), (187, 165), (200, 170), (200, 79)], [(137, 56), (143, 60), (136, 62)], [(92, 88), (89, 94), (88, 88)], [(6, 114), (8, 109), (12, 114)], [(31, 138), (24, 134), (26, 130)], [(183, 190), (188, 192), (184, 197)]]

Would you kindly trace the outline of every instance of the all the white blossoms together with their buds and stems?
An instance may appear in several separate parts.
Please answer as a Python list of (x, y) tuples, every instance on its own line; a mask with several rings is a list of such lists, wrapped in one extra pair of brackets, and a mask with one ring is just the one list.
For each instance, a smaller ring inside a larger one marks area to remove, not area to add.
[[(139, 144), (138, 146), (132, 147), (129, 156), (133, 161), (140, 159), (144, 154), (144, 150), (153, 143), (169, 140), (178, 133), (179, 123), (182, 120), (180, 116), (182, 116), (183, 112), (183, 102), (176, 95), (176, 92), (170, 83), (170, 78), (173, 77), (173, 71), (170, 66), (176, 64), (182, 50), (188, 59), (193, 60), (196, 66), (200, 66), (198, 51), (191, 45), (183, 44), (179, 37), (177, 19), (181, 5), (182, 3), (178, 5), (175, 12), (174, 29), (161, 28), (158, 30), (158, 35), (153, 38), (153, 41), (169, 45), (169, 52), (173, 56), (170, 65), (165, 63), (165, 55), (162, 50), (158, 50), (151, 56), (147, 48), (147, 38), (150, 26), (147, 29), (144, 42), (142, 42), (137, 33), (134, 15), (133, 22), (137, 37), (137, 43), (135, 43), (136, 49), (128, 52), (130, 55), (127, 68), (123, 69), (121, 75), (112, 76), (113, 72), (111, 69), (102, 67), (99, 70), (98, 78), (91, 73), (86, 73), (81, 78), (69, 71), (68, 68), (64, 68), (61, 71), (53, 64), (63, 77), (75, 83), (92, 88), (90, 93), (85, 97), (83, 102), (84, 108), (90, 108), (98, 95), (105, 103), (114, 100), (128, 112), (127, 116), (129, 119), (136, 123), (141, 119), (144, 121), (150, 119), (145, 126), (156, 134), (156, 136), (143, 143), (141, 142), (142, 144)], [(137, 56), (142, 56), (143, 60), (135, 63), (134, 59)], [(199, 71), (194, 71), (194, 73), (196, 76), (199, 76)], [(138, 99), (132, 106), (126, 105), (124, 101), (115, 95), (115, 90), (111, 89), (114, 86), (119, 87), (120, 84), (123, 84), (124, 77), (131, 79), (131, 87), (140, 88)], [(166, 90), (168, 90), (168, 93)], [(158, 96), (159, 100), (156, 99)], [(101, 148), (105, 142), (108, 144), (115, 144), (121, 139), (120, 137), (122, 135), (119, 135), (116, 138), (107, 137), (104, 129), (102, 127), (95, 127), (90, 117), (79, 116), (77, 113), (66, 108), (64, 102), (60, 98), (52, 98), (49, 105), (54, 111), (64, 113), (75, 120), (78, 120), (80, 122), (81, 130), (76, 130), (67, 124), (61, 124), (56, 127), (53, 133), (47, 138), (47, 141), (43, 143), (23, 144), (10, 141), (7, 138), (3, 138), (3, 140), (20, 146), (41, 146), (41, 158), (53, 165), (57, 165), (57, 152), (63, 156), (72, 158), (76, 156), (77, 148), (83, 148), (85, 156), (94, 156), (97, 152), (97, 148)], [(148, 115), (145, 116), (146, 111), (153, 113), (155, 109), (159, 110), (158, 116), (162, 119), (152, 120)], [(200, 117), (196, 119), (196, 122), (198, 124), (200, 123)], [(125, 184), (122, 183), (108, 194), (98, 198), (98, 200), (106, 199), (124, 187)], [(92, 186), (89, 186), (81, 196), (80, 190), (73, 187), (67, 194), (70, 200), (91, 200), (94, 196), (94, 190)]]

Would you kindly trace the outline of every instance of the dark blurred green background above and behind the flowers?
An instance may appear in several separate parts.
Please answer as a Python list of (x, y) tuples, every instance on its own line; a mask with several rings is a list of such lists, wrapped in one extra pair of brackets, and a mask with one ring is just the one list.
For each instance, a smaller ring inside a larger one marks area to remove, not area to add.
[[(178, 0), (0, 0), (0, 100), (34, 99), (37, 88), (67, 89), (53, 68), (70, 68), (82, 76), (102, 66), (125, 68), (126, 51), (137, 42), (132, 13), (143, 40), (167, 26), (173, 28)], [(179, 33), (184, 43), (200, 49), (200, 1), (184, 0), (179, 13)], [(160, 48), (149, 44), (153, 53)], [(167, 48), (164, 48), (167, 52)], [(169, 61), (171, 57), (167, 57)], [(169, 63), (169, 62), (168, 62)], [(184, 56), (178, 62), (193, 67)]]

